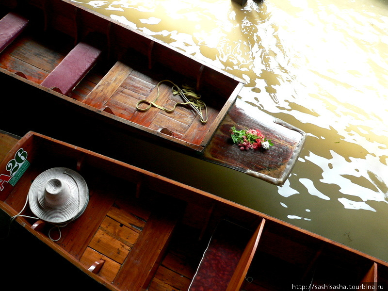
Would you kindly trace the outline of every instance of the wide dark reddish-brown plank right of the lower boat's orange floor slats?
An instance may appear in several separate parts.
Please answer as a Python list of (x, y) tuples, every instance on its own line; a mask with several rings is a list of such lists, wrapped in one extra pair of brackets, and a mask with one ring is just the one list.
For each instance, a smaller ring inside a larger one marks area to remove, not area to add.
[(163, 208), (151, 214), (113, 281), (114, 286), (131, 291), (147, 288), (159, 266), (177, 219), (177, 210)]

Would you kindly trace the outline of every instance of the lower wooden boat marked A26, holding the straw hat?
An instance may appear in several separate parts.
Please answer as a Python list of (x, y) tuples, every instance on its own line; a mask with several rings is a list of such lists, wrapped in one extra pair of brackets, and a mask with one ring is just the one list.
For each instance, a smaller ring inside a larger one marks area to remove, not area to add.
[[(376, 290), (388, 282), (387, 262), (218, 196), (35, 132), (20, 140), (2, 132), (0, 141), (0, 153), (14, 145), (0, 164), (1, 209), (109, 290)], [(90, 193), (57, 241), (25, 203), (53, 167), (77, 171)]]

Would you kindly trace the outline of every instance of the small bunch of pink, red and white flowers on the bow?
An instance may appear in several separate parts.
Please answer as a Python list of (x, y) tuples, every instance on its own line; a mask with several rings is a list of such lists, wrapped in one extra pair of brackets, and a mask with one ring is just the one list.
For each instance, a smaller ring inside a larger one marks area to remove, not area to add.
[(249, 149), (269, 149), (274, 144), (271, 140), (267, 140), (264, 135), (257, 129), (242, 129), (237, 130), (235, 126), (230, 128), (230, 136), (233, 143), (237, 144), (241, 150)]

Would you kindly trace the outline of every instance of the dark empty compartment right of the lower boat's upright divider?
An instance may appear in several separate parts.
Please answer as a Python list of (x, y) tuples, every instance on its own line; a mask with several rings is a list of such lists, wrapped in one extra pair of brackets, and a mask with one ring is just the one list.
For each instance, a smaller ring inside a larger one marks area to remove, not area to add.
[(370, 259), (356, 252), (267, 220), (242, 289), (291, 290), (297, 284), (307, 290), (339, 285), (367, 289), (385, 283), (371, 276), (373, 268)]

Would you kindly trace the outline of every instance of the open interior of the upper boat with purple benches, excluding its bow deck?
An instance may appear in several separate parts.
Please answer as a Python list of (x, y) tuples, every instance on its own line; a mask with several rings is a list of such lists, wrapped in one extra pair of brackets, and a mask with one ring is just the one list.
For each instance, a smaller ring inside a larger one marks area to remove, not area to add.
[[(2, 73), (178, 146), (202, 151), (243, 86), (226, 72), (74, 2), (1, 4), (0, 29), (10, 31), (0, 39)], [(197, 105), (176, 106), (186, 101)]]

